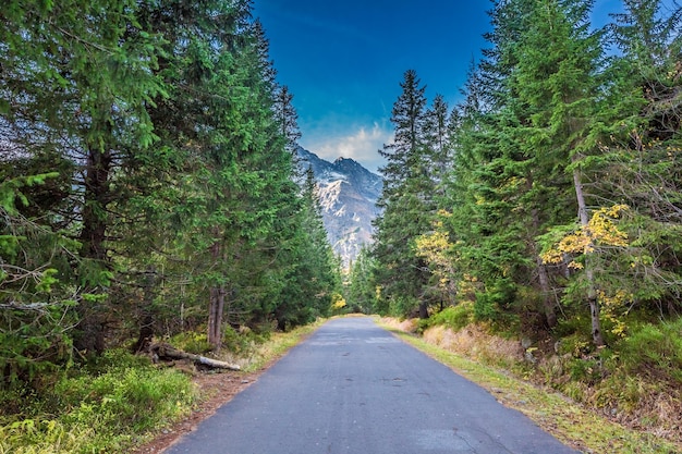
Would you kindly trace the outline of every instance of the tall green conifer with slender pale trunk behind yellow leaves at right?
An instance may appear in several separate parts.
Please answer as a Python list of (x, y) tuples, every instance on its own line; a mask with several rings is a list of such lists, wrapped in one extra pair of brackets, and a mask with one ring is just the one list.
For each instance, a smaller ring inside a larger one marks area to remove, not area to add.
[[(579, 222), (589, 223), (590, 212), (585, 192), (588, 167), (586, 158), (594, 155), (589, 140), (596, 99), (600, 89), (597, 77), (601, 62), (598, 33), (589, 32), (592, 2), (555, 2), (536, 4), (522, 33), (513, 87), (521, 102), (529, 108), (529, 125), (525, 128), (537, 159), (569, 170), (573, 176)], [(585, 250), (593, 246), (586, 246)], [(604, 345), (598, 300), (598, 282), (594, 263), (586, 258), (582, 273), (584, 297), (590, 309), (595, 345)]]

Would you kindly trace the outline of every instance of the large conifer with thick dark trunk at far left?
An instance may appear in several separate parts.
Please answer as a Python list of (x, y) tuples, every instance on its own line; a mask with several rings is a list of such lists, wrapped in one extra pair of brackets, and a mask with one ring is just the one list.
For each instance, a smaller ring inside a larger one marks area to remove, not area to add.
[(147, 106), (162, 91), (153, 74), (157, 41), (135, 11), (125, 0), (13, 2), (0, 16), (7, 138), (34, 162), (48, 157), (45, 164), (73, 172), (62, 175), (71, 179), (64, 201), (51, 207), (59, 213), (44, 219), (81, 243), (85, 260), (71, 279), (90, 294), (77, 305), (76, 346), (88, 353), (103, 348), (111, 207), (126, 196), (115, 180), (154, 142)]

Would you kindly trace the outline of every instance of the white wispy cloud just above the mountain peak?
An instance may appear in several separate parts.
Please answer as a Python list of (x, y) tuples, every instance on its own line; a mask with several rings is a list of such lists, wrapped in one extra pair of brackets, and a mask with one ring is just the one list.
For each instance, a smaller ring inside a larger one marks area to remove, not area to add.
[(317, 137), (305, 143), (303, 147), (328, 161), (337, 158), (351, 158), (363, 164), (373, 172), (385, 164), (386, 160), (379, 156), (378, 150), (383, 148), (393, 138), (393, 131), (381, 127), (375, 123), (370, 128), (360, 127), (351, 134), (338, 134), (333, 137)]

